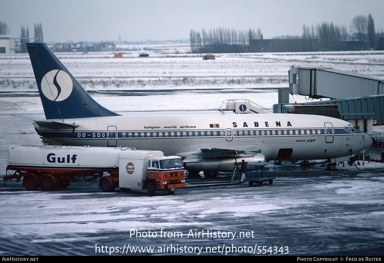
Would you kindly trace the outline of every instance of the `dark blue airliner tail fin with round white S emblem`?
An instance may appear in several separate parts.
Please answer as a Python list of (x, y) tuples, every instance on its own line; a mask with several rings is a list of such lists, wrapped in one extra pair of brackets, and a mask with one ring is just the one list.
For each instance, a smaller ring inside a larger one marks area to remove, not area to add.
[(47, 45), (27, 43), (27, 48), (46, 119), (119, 115), (94, 101)]

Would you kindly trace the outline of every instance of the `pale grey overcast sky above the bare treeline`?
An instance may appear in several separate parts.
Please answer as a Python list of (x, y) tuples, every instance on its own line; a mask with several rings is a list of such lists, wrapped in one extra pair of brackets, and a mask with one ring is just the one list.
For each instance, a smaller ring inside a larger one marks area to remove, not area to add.
[(0, 0), (11, 37), (41, 23), (44, 41), (188, 39), (191, 29), (260, 28), (264, 38), (301, 35), (302, 26), (349, 25), (372, 14), (384, 29), (384, 0)]

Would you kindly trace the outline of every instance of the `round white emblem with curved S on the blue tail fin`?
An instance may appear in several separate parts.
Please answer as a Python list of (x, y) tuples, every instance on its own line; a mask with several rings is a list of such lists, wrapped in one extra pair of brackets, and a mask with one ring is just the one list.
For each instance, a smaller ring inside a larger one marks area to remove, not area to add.
[(71, 95), (73, 83), (65, 71), (53, 69), (41, 79), (41, 91), (51, 101), (63, 101)]

